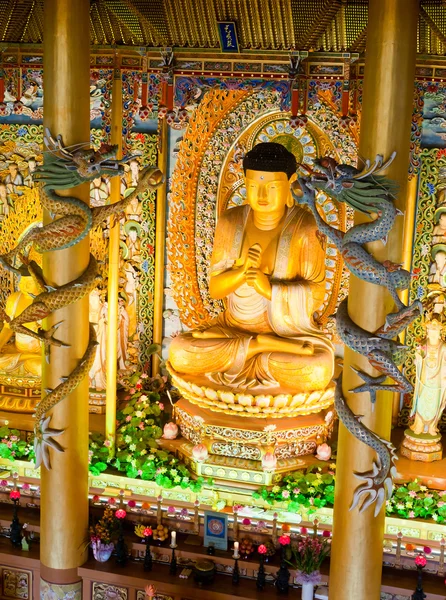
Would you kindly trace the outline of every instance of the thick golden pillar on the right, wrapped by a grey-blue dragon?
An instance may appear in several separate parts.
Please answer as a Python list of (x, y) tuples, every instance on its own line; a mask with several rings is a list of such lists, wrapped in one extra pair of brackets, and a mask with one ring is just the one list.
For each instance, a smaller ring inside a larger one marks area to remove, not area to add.
[[(418, 0), (379, 0), (369, 3), (366, 67), (359, 154), (374, 159), (376, 154), (397, 156), (386, 175), (399, 184), (396, 203), (406, 212), (417, 44)], [(413, 207), (410, 207), (413, 210)], [(412, 215), (406, 214), (412, 222)], [(356, 215), (355, 223), (366, 219)], [(401, 262), (404, 218), (398, 217), (387, 245), (376, 242), (368, 250), (380, 261)], [(353, 321), (373, 332), (394, 309), (384, 287), (367, 284), (350, 276), (349, 314)], [(367, 359), (348, 348), (344, 360), (344, 396), (353, 412), (364, 415), (364, 423), (389, 438), (392, 394), (378, 395), (371, 411), (369, 394), (349, 394), (362, 380), (350, 366), (377, 375)], [(349, 511), (358, 486), (354, 471), (367, 471), (376, 458), (365, 444), (355, 439), (343, 425), (339, 428), (333, 546), (330, 569), (330, 600), (379, 600), (384, 538), (384, 510), (373, 516), (373, 507), (363, 513)]]

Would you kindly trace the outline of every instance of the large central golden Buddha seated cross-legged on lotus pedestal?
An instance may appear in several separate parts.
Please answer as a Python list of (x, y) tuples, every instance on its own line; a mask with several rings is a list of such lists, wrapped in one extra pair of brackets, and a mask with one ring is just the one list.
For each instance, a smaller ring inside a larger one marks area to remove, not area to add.
[(325, 294), (325, 252), (313, 216), (290, 191), (296, 159), (260, 143), (243, 161), (247, 204), (217, 223), (210, 295), (225, 310), (172, 340), (171, 369), (198, 385), (250, 394), (324, 390), (334, 351), (314, 314)]

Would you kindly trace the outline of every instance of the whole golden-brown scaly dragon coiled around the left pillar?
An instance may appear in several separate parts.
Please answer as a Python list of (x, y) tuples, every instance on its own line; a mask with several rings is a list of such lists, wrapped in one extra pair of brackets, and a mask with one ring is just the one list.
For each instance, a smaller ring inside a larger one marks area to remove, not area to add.
[[(40, 293), (33, 299), (32, 304), (14, 319), (10, 320), (4, 311), (1, 316), (13, 331), (25, 333), (43, 342), (49, 362), (51, 346), (67, 346), (54, 337), (60, 323), (46, 331), (42, 328), (32, 331), (26, 327), (26, 323), (41, 321), (53, 312), (88, 295), (97, 284), (98, 268), (95, 258), (90, 255), (89, 265), (80, 277), (60, 287), (52, 287), (46, 284), (38, 265), (28, 259), (31, 246), (41, 253), (74, 246), (108, 217), (117, 218), (135, 196), (148, 188), (159, 187), (164, 177), (158, 168), (146, 167), (141, 172), (138, 185), (126, 198), (114, 204), (90, 208), (78, 198), (58, 195), (56, 190), (71, 189), (95, 177), (123, 175), (124, 164), (134, 157), (129, 155), (117, 160), (117, 146), (110, 145), (103, 145), (97, 151), (86, 148), (86, 145), (78, 145), (71, 147), (70, 151), (64, 147), (61, 137), (53, 138), (48, 129), (45, 131), (44, 143), (47, 149), (45, 162), (36, 169), (35, 178), (40, 182), (42, 207), (48, 210), (53, 218), (56, 215), (57, 217), (43, 227), (36, 226), (31, 229), (13, 250), (0, 256), (0, 266), (18, 276), (33, 277)], [(50, 427), (51, 416), (47, 413), (73, 392), (84, 379), (91, 368), (95, 352), (95, 333), (90, 325), (89, 343), (79, 364), (67, 377), (61, 379), (61, 383), (55, 389), (45, 390), (46, 395), (37, 405), (34, 442), (36, 467), (43, 462), (47, 469), (51, 468), (50, 448), (63, 452), (62, 446), (54, 439), (62, 434), (63, 430)]]

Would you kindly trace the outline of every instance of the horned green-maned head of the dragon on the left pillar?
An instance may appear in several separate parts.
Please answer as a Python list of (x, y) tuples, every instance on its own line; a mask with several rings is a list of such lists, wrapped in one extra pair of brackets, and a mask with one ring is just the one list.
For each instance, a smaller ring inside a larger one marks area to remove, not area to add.
[(76, 187), (102, 175), (123, 175), (124, 164), (135, 158), (135, 155), (121, 160), (115, 158), (118, 147), (108, 144), (102, 144), (99, 150), (83, 145), (69, 150), (63, 145), (61, 136), (53, 138), (48, 129), (45, 130), (44, 143), (47, 148), (45, 163), (36, 169), (35, 177), (55, 189)]

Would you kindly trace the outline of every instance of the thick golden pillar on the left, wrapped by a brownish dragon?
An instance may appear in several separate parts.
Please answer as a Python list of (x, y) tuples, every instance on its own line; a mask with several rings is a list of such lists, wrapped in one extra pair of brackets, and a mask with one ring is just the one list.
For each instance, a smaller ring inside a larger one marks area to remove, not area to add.
[[(44, 126), (62, 134), (70, 146), (90, 136), (89, 0), (45, 0), (44, 8)], [(89, 186), (60, 192), (89, 201)], [(50, 215), (45, 214), (46, 222)], [(79, 277), (89, 262), (88, 236), (66, 250), (48, 252), (43, 272), (49, 285), (61, 286)], [(43, 388), (55, 388), (84, 355), (89, 338), (88, 297), (57, 311), (46, 327), (58, 321), (57, 338), (69, 347), (51, 348), (43, 361)], [(58, 438), (64, 453), (51, 451), (52, 469), (41, 469), (41, 577), (42, 597), (54, 586), (74, 585), (80, 594), (77, 567), (87, 556), (88, 528), (88, 378), (50, 411), (51, 427), (64, 429)], [(70, 586), (68, 586), (70, 587)], [(66, 588), (65, 588), (66, 589)]]

